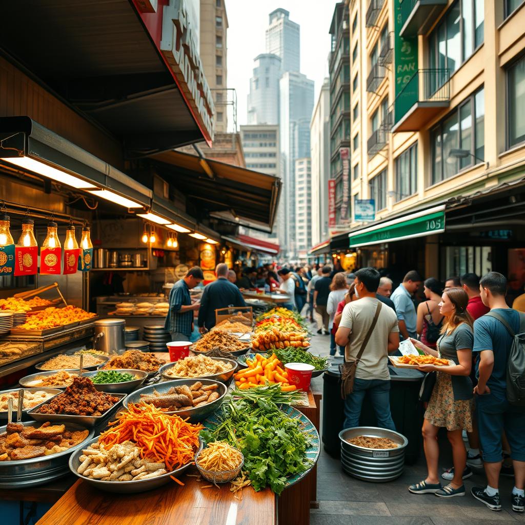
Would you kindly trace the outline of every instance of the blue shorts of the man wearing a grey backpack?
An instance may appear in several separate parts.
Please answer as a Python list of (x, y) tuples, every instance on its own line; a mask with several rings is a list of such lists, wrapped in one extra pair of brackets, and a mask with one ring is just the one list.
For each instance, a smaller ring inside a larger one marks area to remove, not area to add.
[(483, 460), (498, 463), (503, 459), (501, 434), (505, 430), (510, 456), (525, 461), (525, 409), (509, 404), (505, 394), (476, 396), (479, 441)]

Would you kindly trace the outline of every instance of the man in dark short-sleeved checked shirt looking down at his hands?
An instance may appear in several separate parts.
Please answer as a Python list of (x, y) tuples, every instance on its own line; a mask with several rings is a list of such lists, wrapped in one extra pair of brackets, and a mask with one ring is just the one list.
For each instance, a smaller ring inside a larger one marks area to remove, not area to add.
[(194, 266), (171, 289), (170, 309), (167, 312), (164, 329), (171, 333), (172, 341), (190, 340), (193, 331), (193, 312), (201, 306), (199, 302), (192, 304), (190, 290), (198, 286), (203, 279), (202, 269)]

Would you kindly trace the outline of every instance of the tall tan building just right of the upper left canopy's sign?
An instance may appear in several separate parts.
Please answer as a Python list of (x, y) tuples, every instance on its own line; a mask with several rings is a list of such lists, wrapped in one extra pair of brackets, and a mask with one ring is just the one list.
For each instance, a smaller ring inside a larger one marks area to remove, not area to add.
[(215, 131), (228, 131), (227, 40), (225, 0), (200, 0), (199, 40), (202, 66), (215, 103)]

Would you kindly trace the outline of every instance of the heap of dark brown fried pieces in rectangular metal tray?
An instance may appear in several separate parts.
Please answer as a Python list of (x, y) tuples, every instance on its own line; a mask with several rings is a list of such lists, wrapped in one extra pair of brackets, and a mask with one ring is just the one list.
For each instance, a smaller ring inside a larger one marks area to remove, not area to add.
[(89, 377), (75, 377), (71, 386), (36, 411), (39, 414), (98, 417), (118, 402), (118, 397), (99, 392)]

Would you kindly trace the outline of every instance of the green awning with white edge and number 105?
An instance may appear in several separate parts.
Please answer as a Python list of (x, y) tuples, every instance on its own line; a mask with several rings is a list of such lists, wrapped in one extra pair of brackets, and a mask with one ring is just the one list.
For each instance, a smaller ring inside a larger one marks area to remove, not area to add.
[(445, 231), (445, 206), (435, 206), (421, 212), (388, 220), (348, 234), (350, 247), (390, 243), (395, 240), (424, 237)]

